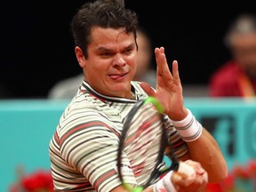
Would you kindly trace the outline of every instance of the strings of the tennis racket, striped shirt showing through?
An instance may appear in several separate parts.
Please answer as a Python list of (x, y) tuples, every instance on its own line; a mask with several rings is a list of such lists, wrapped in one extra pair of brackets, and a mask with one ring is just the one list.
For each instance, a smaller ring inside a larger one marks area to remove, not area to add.
[[(156, 108), (152, 108), (151, 105), (147, 104), (146, 106), (143, 106), (143, 108), (141, 107), (140, 110), (141, 116), (136, 119), (137, 121), (141, 120), (139, 128), (136, 128), (138, 130), (136, 132), (136, 137), (133, 137), (130, 146), (126, 146), (127, 143), (125, 142), (124, 151), (127, 152), (128, 157), (131, 157), (130, 163), (132, 164), (134, 175), (140, 180), (140, 183), (145, 183), (149, 179), (150, 173), (155, 168), (158, 151), (159, 148), (161, 148), (162, 122), (161, 116), (156, 111)], [(134, 121), (134, 119), (135, 116), (132, 121)], [(144, 120), (143, 123), (141, 123), (142, 119)], [(132, 130), (134, 130), (132, 129), (133, 125), (134, 124), (132, 123), (130, 124), (130, 130), (127, 132), (127, 137), (130, 131), (132, 132)], [(161, 167), (164, 167), (164, 165), (162, 164)]]

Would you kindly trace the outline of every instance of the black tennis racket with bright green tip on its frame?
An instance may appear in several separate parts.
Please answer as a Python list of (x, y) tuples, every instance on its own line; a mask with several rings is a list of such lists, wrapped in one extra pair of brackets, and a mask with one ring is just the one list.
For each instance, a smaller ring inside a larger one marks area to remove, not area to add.
[[(144, 188), (148, 188), (148, 186), (156, 183), (159, 177), (166, 172), (171, 170), (177, 172), (179, 170), (179, 160), (174, 155), (172, 147), (170, 147), (168, 142), (163, 112), (164, 107), (160, 102), (154, 97), (148, 97), (145, 100), (137, 101), (124, 121), (117, 152), (117, 172), (124, 187), (131, 192), (140, 192)], [(142, 150), (145, 146), (145, 151), (149, 151), (148, 154)], [(155, 150), (151, 151), (152, 148), (155, 148)], [(140, 150), (142, 150), (141, 154)], [(163, 164), (166, 151), (168, 151), (168, 156), (171, 159), (169, 167)], [(129, 182), (126, 181), (128, 179), (124, 180), (125, 172), (122, 170), (122, 167), (124, 167), (124, 153), (128, 154), (128, 158), (129, 155), (131, 159), (133, 158), (131, 167), (140, 166), (139, 172), (134, 173), (134, 175), (139, 177), (139, 187), (132, 188), (131, 185), (128, 185)], [(141, 156), (146, 157), (141, 160)], [(136, 161), (139, 163), (134, 163)]]

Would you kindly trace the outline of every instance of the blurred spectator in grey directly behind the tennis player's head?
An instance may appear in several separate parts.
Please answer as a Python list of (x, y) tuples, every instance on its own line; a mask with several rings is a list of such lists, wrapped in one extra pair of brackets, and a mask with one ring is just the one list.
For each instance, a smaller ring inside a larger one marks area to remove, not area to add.
[[(152, 48), (151, 39), (144, 28), (137, 30), (137, 43), (139, 44), (138, 50), (138, 68), (134, 76), (135, 81), (144, 81), (152, 87), (156, 87), (156, 70), (152, 69)], [(76, 95), (78, 86), (82, 84), (84, 75), (83, 73), (72, 76), (67, 79), (61, 80), (54, 84), (48, 93), (49, 99), (71, 99)]]

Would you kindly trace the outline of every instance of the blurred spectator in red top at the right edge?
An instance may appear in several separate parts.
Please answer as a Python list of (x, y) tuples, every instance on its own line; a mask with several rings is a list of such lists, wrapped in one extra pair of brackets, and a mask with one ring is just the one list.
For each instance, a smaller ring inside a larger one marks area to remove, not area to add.
[(231, 23), (225, 44), (232, 58), (210, 78), (211, 97), (252, 98), (256, 92), (256, 15), (240, 14)]

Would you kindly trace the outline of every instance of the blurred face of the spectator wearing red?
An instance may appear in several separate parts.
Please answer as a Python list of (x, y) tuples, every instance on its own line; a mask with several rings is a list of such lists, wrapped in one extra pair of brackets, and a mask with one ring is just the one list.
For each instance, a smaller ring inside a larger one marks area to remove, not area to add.
[(256, 77), (256, 33), (232, 36), (232, 52), (246, 73)]

